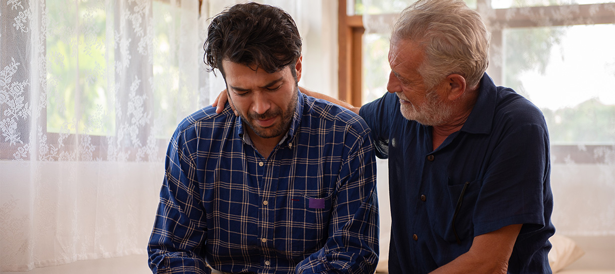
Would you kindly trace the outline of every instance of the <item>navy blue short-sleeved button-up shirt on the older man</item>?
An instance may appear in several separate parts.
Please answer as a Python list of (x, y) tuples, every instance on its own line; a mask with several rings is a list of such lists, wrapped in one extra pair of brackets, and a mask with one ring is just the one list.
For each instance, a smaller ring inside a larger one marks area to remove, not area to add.
[(360, 109), (376, 155), (389, 159), (390, 273), (429, 273), (467, 252), (474, 237), (512, 224), (523, 227), (508, 273), (551, 273), (555, 227), (544, 116), (486, 74), (478, 93), (461, 130), (435, 151), (432, 127), (405, 119), (395, 94)]

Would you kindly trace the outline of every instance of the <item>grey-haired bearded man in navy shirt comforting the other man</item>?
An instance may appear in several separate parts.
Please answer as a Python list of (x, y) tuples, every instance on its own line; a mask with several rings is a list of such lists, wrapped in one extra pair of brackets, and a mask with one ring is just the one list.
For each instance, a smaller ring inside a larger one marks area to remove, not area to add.
[(461, 0), (403, 10), (382, 98), (352, 109), (389, 159), (390, 273), (550, 273), (549, 135), (536, 106), (496, 87), (489, 34)]

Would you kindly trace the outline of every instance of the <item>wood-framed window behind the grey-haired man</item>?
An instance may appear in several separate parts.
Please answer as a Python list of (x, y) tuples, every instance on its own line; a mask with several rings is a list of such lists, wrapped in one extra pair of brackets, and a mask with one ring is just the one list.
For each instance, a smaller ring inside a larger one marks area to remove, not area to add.
[[(346, 88), (350, 93), (343, 99), (360, 105), (386, 92), (389, 29), (397, 12), (410, 2), (347, 2), (352, 15), (343, 14), (340, 25), (346, 26), (347, 37), (360, 33), (362, 39), (346, 39), (347, 44), (359, 43), (345, 48), (340, 42), (340, 52), (350, 49), (349, 59), (356, 55), (352, 50), (363, 54), (359, 65), (352, 61), (346, 62), (350, 64), (346, 68), (344, 63), (339, 65), (340, 71), (347, 71), (346, 79), (340, 79), (340, 90)], [(552, 144), (615, 143), (615, 90), (609, 85), (615, 80), (615, 51), (611, 49), (615, 37), (608, 35), (615, 33), (613, 1), (468, 0), (467, 4), (478, 9), (492, 33), (488, 74), (496, 84), (514, 88), (541, 108)], [(367, 31), (365, 17), (376, 22)], [(343, 41), (344, 29), (340, 29)], [(369, 65), (363, 66), (365, 63)], [(357, 86), (353, 83), (357, 79), (360, 88), (347, 88)]]

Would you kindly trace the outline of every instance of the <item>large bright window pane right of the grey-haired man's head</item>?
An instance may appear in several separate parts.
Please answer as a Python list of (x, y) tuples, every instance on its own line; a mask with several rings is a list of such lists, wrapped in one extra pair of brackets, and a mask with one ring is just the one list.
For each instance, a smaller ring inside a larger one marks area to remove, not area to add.
[(615, 25), (507, 29), (504, 85), (547, 119), (552, 144), (615, 143)]

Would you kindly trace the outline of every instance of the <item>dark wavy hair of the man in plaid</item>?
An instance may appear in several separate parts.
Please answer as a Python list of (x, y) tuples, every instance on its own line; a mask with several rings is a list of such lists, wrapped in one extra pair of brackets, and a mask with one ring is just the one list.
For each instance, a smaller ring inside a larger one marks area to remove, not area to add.
[[(249, 2), (213, 18), (204, 49), (208, 71), (217, 68), (222, 76), (224, 59), (273, 73), (296, 64), (301, 57), (301, 37), (295, 21), (284, 10)], [(294, 67), (291, 71), (296, 79)]]

